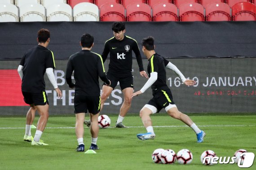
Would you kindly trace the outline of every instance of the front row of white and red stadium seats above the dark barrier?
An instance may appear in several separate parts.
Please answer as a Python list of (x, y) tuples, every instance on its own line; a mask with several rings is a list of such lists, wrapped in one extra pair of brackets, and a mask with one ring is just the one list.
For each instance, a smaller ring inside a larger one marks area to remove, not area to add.
[(256, 21), (256, 6), (250, 2), (238, 2), (232, 6), (232, 10), (223, 2), (207, 4), (205, 8), (196, 2), (181, 4), (179, 8), (171, 3), (158, 3), (152, 9), (142, 2), (128, 4), (126, 8), (113, 2), (102, 4), (100, 10), (96, 4), (84, 2), (76, 4), (72, 10), (69, 4), (64, 3), (66, 0), (49, 1), (59, 1), (56, 4), (47, 4), (47, 0), (41, 0), (42, 4), (39, 3), (40, 0), (26, 0), (26, 3), (22, 4), (22, 0), (15, 0), (18, 7), (7, 3), (11, 0), (5, 1), (6, 3), (0, 1), (0, 22)]

